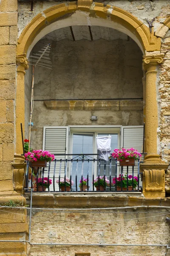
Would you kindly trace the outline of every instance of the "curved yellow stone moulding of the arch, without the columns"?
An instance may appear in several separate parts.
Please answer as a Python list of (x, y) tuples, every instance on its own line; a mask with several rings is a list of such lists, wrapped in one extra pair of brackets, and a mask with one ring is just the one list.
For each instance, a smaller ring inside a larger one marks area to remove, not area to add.
[(161, 48), (161, 38), (157, 38), (153, 33), (150, 34), (149, 28), (129, 12), (115, 6), (103, 6), (102, 3), (92, 3), (91, 0), (79, 0), (78, 2), (71, 2), (67, 5), (61, 3), (52, 6), (43, 11), (43, 13), (39, 13), (35, 16), (25, 27), (18, 39), (17, 55), (22, 55), (27, 52), (28, 47), (43, 28), (54, 23), (59, 18), (64, 18), (67, 14), (74, 13), (77, 9), (89, 12), (89, 16), (98, 16), (103, 19), (109, 18), (124, 26), (136, 35), (144, 51), (157, 51)]

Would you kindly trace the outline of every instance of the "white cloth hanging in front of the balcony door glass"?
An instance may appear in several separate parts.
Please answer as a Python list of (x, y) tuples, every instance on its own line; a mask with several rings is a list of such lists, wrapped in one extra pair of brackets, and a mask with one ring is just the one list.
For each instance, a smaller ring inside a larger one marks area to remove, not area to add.
[(111, 156), (111, 136), (96, 137), (99, 158), (108, 161)]

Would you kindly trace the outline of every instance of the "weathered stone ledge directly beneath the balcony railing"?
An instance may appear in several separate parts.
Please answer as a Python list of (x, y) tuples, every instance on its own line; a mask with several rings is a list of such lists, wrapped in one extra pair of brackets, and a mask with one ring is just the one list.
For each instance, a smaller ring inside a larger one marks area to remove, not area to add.
[[(30, 194), (26, 193), (27, 204)], [(34, 193), (33, 207), (51, 208), (97, 208), (97, 207), (136, 207), (170, 206), (170, 198), (144, 198), (140, 192), (127, 193)]]

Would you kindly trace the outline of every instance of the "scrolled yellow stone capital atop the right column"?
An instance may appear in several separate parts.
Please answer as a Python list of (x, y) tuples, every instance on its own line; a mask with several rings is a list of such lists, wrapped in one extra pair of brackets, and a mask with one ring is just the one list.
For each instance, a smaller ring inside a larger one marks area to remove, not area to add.
[(144, 55), (143, 56), (143, 70), (147, 71), (150, 66), (157, 66), (163, 62), (164, 55)]

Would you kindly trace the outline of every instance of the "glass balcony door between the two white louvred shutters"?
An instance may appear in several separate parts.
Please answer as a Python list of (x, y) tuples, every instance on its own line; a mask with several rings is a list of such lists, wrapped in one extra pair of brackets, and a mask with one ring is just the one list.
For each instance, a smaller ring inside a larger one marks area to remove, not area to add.
[[(87, 129), (88, 130), (88, 129)], [(96, 129), (97, 130), (97, 129)], [(72, 132), (71, 133), (71, 147), (70, 151), (71, 154), (77, 154), (74, 157), (74, 159), (77, 160), (77, 162), (73, 162), (73, 168), (72, 168), (72, 180), (74, 180), (74, 187), (73, 189), (76, 189), (75, 182), (76, 182), (76, 176), (77, 176), (77, 187), (79, 186), (79, 180), (81, 179), (81, 176), (89, 178), (89, 186), (90, 190), (92, 187), (92, 174), (94, 173), (94, 179), (99, 174), (100, 176), (104, 175), (104, 166), (105, 161), (101, 161), (100, 165), (100, 173), (99, 173), (99, 161), (95, 162), (93, 164), (93, 159), (98, 158), (99, 150), (97, 150), (96, 145), (96, 137), (103, 137), (103, 136), (111, 136), (111, 149), (112, 151), (118, 147), (118, 133), (115, 134), (109, 134), (106, 129), (102, 129), (102, 131), (106, 131), (101, 133), (100, 131), (92, 132), (93, 129), (89, 128), (89, 132)], [(94, 154), (94, 155), (92, 155)], [(84, 163), (82, 165), (82, 158), (84, 157)], [(88, 161), (86, 159), (90, 159), (91, 161)], [(70, 168), (69, 168), (70, 171)], [(106, 161), (106, 169), (105, 169), (105, 175), (109, 178), (109, 175), (111, 173), (111, 177), (113, 178), (115, 175), (115, 162), (112, 161), (112, 165), (110, 166), (110, 161)], [(70, 172), (69, 172), (70, 174)], [(79, 187), (78, 187), (79, 190)]]

